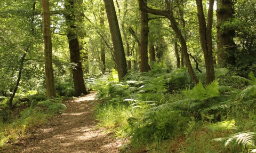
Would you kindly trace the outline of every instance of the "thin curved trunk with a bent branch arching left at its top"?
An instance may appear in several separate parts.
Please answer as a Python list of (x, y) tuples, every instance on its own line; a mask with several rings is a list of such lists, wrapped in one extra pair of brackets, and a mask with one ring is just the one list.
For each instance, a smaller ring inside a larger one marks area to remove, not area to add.
[(182, 51), (183, 51), (183, 55), (184, 55), (184, 58), (186, 61), (186, 66), (188, 68), (189, 76), (190, 76), (191, 80), (193, 81), (194, 85), (196, 85), (198, 83), (198, 78), (191, 66), (191, 63), (190, 63), (190, 60), (188, 57), (188, 52), (187, 52), (187, 44), (186, 44), (186, 41), (185, 41), (180, 29), (177, 26), (177, 22), (175, 21), (175, 18), (173, 16), (173, 11), (170, 6), (170, 2), (165, 1), (167, 10), (156, 10), (156, 9), (151, 9), (148, 6), (146, 6), (145, 3), (143, 2), (143, 0), (138, 0), (138, 1), (139, 1), (139, 6), (140, 6), (141, 11), (148, 12), (148, 13), (155, 14), (155, 15), (161, 15), (170, 20), (171, 28), (174, 30), (175, 34), (179, 38), (179, 41), (180, 41), (180, 44), (182, 47)]

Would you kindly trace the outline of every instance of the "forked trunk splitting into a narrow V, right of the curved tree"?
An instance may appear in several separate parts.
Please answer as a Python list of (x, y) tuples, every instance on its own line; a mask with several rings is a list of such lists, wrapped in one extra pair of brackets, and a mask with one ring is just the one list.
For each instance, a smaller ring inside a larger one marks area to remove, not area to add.
[(198, 23), (199, 23), (199, 36), (200, 36), (201, 47), (204, 52), (204, 61), (205, 61), (205, 69), (206, 69), (206, 85), (210, 84), (215, 78), (214, 67), (213, 67), (213, 53), (212, 53), (213, 3), (214, 3), (214, 0), (210, 0), (208, 16), (207, 16), (207, 27), (206, 27), (203, 2), (202, 0), (196, 0)]

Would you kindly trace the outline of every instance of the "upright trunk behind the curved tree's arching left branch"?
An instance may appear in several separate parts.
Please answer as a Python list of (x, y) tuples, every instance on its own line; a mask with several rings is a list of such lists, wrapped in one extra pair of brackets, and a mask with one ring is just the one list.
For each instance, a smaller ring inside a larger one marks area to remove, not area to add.
[[(147, 1), (144, 1), (147, 5)], [(148, 72), (148, 13), (140, 11), (140, 72)]]

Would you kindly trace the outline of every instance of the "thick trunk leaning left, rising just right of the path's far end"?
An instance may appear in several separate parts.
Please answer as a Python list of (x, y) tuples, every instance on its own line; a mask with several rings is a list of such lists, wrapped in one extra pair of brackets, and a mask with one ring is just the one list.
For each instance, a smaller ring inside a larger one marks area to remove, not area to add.
[(113, 0), (104, 0), (108, 17), (109, 29), (114, 46), (115, 62), (119, 81), (127, 74), (127, 64), (125, 60), (124, 46), (118, 26), (116, 11)]

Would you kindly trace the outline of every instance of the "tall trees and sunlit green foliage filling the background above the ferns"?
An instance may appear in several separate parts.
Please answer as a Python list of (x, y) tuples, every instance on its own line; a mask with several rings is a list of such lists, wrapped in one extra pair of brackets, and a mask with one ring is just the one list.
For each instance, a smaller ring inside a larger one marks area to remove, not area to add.
[(88, 93), (86, 78), (114, 68), (122, 80), (154, 69), (154, 62), (185, 67), (194, 85), (211, 83), (215, 64), (238, 75), (253, 71), (255, 4), (218, 0), (215, 12), (213, 3), (65, 0), (46, 10), (42, 0), (33, 10), (29, 2), (0, 1), (0, 94), (12, 95), (10, 106), (15, 93), (45, 92), (45, 85), (49, 97), (54, 88), (56, 96), (79, 96)]

